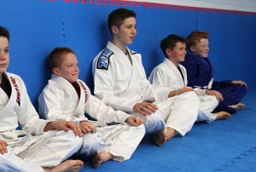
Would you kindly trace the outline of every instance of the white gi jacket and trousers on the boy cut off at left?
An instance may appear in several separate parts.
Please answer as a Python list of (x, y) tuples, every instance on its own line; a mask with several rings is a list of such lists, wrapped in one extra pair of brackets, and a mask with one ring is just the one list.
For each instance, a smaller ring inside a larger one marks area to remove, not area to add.
[[(0, 88), (0, 139), (9, 144), (8, 153), (0, 154), (0, 170), (43, 171), (41, 167), (55, 167), (79, 151), (82, 139), (73, 131), (44, 133), (49, 121), (39, 118), (19, 76), (5, 72), (3, 77), (9, 80), (11, 95)], [(22, 130), (16, 130), (19, 123)]]

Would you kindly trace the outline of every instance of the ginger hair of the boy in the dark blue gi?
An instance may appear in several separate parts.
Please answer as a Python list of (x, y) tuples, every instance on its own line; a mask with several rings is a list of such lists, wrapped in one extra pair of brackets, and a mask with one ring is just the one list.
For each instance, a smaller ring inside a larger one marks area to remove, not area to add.
[(194, 31), (189, 34), (187, 37), (187, 46), (190, 49), (191, 46), (195, 46), (197, 43), (200, 42), (201, 38), (207, 39), (209, 37), (208, 32), (200, 32), (200, 31)]

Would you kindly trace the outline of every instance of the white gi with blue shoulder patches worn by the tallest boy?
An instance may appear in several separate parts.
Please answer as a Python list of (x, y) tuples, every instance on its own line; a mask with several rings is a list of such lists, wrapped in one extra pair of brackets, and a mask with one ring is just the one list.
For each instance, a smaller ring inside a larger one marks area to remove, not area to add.
[(143, 118), (145, 117), (141, 114), (133, 112), (133, 106), (143, 101), (154, 102), (160, 111), (146, 117), (146, 131), (154, 133), (166, 129), (167, 126), (176, 129), (180, 135), (185, 135), (195, 123), (194, 113), (197, 114), (198, 111), (195, 109), (199, 106), (198, 98), (195, 94), (190, 94), (188, 100), (195, 99), (195, 108), (192, 108), (189, 114), (186, 112), (186, 117), (179, 115), (180, 117), (175, 118), (179, 113), (176, 107), (181, 103), (174, 104), (174, 99), (168, 98), (171, 89), (150, 84), (144, 71), (141, 54), (126, 49), (131, 60), (110, 42), (106, 49), (96, 55), (92, 66), (94, 94), (116, 110), (137, 114)]

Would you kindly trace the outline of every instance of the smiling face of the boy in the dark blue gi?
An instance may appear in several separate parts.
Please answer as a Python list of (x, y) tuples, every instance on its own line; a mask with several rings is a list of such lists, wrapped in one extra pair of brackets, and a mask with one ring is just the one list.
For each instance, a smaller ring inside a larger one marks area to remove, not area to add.
[(209, 49), (209, 42), (207, 38), (201, 38), (199, 43), (196, 43), (195, 46), (190, 47), (193, 54), (201, 56), (202, 58), (208, 57)]

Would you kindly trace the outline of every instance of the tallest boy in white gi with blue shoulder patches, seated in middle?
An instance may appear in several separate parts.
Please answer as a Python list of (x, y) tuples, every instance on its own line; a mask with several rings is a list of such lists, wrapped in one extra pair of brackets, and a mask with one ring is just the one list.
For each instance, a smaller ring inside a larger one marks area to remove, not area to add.
[(175, 133), (185, 135), (195, 123), (199, 99), (194, 91), (172, 97), (170, 89), (154, 87), (146, 77), (141, 54), (126, 47), (137, 33), (136, 14), (116, 9), (108, 15), (112, 40), (96, 55), (94, 93), (108, 106), (146, 119), (146, 131), (158, 146)]

